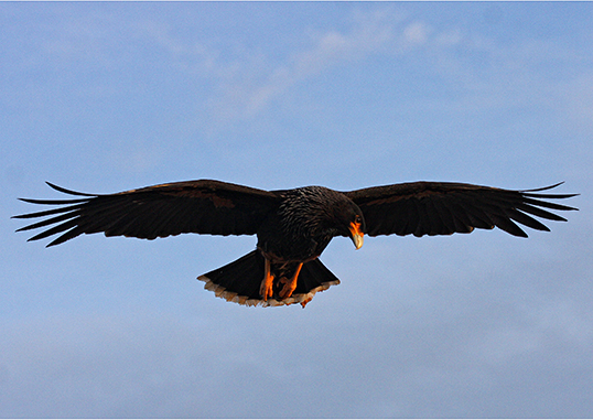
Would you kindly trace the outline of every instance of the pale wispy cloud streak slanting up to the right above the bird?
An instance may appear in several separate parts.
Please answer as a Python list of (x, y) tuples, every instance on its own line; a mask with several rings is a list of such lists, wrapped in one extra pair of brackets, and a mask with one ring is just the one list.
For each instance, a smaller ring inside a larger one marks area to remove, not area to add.
[(358, 13), (345, 29), (312, 31), (309, 46), (283, 62), (262, 57), (257, 75), (237, 72), (209, 105), (216, 119), (252, 118), (295, 85), (333, 67), (374, 54), (402, 54), (428, 44), (451, 46), (459, 33), (438, 33), (421, 21), (406, 21), (389, 10)]

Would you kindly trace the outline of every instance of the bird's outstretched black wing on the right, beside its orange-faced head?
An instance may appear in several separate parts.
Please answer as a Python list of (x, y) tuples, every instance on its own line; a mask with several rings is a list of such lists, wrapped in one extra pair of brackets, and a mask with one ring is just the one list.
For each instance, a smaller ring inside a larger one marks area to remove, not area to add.
[(549, 230), (530, 215), (565, 222), (543, 208), (576, 209), (545, 200), (569, 198), (578, 194), (538, 193), (560, 184), (510, 191), (460, 183), (412, 182), (344, 194), (363, 211), (370, 236), (451, 235), (470, 233), (476, 227), (492, 229), (497, 226), (510, 235), (527, 237), (515, 222), (533, 229)]

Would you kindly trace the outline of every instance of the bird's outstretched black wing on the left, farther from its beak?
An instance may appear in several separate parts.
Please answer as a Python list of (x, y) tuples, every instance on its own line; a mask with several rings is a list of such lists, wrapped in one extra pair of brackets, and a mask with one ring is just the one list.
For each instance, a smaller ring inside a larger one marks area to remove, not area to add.
[(277, 194), (200, 180), (175, 182), (125, 191), (117, 194), (84, 194), (47, 183), (52, 189), (84, 198), (31, 200), (26, 203), (60, 205), (44, 212), (14, 216), (51, 216), (19, 230), (55, 225), (29, 240), (62, 234), (47, 246), (58, 245), (82, 234), (131, 236), (154, 239), (186, 233), (209, 235), (254, 235), (266, 215), (278, 206)]

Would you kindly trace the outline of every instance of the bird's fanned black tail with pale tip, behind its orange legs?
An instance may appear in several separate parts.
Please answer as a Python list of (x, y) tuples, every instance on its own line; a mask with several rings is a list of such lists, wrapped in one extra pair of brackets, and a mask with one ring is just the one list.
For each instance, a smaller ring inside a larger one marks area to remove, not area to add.
[(303, 266), (296, 289), (290, 298), (281, 299), (277, 289), (281, 290), (282, 287), (274, 284), (274, 295), (263, 301), (259, 294), (259, 288), (263, 280), (263, 257), (259, 251), (254, 250), (236, 261), (200, 276), (197, 279), (206, 282), (204, 288), (216, 293), (218, 298), (248, 306), (280, 306), (301, 303), (304, 308), (316, 292), (326, 290), (330, 286), (339, 284), (339, 280), (317, 258)]

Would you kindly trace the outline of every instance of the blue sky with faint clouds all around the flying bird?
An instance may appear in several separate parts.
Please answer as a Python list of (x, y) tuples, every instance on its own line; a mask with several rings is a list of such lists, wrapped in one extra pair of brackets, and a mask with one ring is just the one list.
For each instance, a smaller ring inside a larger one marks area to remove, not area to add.
[[(593, 3), (0, 3), (0, 417), (592, 417)], [(552, 231), (335, 239), (244, 308), (255, 237), (15, 234), (50, 181), (581, 193)]]

